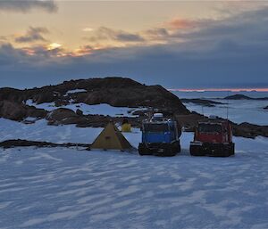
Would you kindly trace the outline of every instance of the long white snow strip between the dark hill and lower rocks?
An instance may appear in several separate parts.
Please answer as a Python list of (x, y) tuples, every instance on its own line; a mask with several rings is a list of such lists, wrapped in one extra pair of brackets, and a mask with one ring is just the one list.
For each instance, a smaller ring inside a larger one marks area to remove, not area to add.
[(45, 109), (45, 110), (55, 110), (58, 108), (67, 108), (73, 111), (76, 111), (78, 109), (82, 110), (85, 115), (88, 114), (102, 114), (102, 115), (109, 115), (111, 117), (137, 117), (135, 115), (132, 115), (131, 113), (135, 110), (144, 110), (146, 108), (128, 108), (128, 107), (113, 107), (109, 104), (102, 103), (102, 104), (96, 104), (96, 105), (88, 105), (86, 103), (72, 103), (65, 106), (56, 107), (54, 105), (54, 102), (44, 102), (41, 104), (36, 104), (35, 102), (32, 102), (32, 100), (28, 100), (26, 102), (29, 106), (35, 106), (39, 109)]

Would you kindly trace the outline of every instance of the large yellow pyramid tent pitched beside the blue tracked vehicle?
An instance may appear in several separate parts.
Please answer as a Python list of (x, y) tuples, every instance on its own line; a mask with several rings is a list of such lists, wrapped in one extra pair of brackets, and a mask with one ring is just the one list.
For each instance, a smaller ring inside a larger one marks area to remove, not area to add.
[(90, 149), (120, 150), (131, 149), (128, 140), (121, 134), (113, 123), (108, 123), (104, 130), (96, 137)]

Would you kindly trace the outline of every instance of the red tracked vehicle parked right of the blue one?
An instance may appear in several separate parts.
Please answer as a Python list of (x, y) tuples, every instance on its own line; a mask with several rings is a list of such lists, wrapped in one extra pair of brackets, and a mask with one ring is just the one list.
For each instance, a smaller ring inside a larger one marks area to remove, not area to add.
[(229, 157), (234, 155), (234, 149), (228, 120), (210, 117), (197, 123), (194, 141), (190, 143), (192, 156)]

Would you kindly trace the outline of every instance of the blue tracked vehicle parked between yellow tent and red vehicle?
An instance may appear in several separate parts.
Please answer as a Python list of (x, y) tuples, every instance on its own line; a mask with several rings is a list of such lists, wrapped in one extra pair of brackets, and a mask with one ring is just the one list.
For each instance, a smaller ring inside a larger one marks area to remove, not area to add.
[(141, 129), (140, 155), (174, 156), (180, 152), (181, 130), (176, 121), (164, 119), (162, 113), (155, 113), (152, 119), (142, 123)]

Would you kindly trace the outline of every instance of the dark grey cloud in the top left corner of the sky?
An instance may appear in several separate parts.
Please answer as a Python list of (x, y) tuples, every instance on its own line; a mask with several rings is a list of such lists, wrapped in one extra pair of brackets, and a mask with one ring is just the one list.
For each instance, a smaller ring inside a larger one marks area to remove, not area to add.
[(1, 0), (0, 12), (31, 12), (43, 10), (57, 12), (58, 7), (53, 0)]

